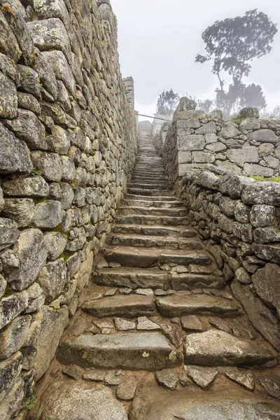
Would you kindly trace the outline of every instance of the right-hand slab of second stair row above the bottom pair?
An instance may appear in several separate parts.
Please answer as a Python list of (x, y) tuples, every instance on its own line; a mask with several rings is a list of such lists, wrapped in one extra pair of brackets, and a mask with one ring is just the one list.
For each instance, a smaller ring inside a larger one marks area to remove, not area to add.
[(156, 299), (160, 314), (166, 318), (185, 315), (237, 316), (241, 307), (231, 300), (211, 295), (174, 294)]

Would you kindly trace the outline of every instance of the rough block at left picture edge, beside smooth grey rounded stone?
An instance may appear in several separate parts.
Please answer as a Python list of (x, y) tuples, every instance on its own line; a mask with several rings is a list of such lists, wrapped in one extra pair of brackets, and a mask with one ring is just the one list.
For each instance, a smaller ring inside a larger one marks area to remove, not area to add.
[(19, 228), (29, 226), (34, 214), (35, 204), (31, 198), (6, 198), (3, 216), (14, 220)]

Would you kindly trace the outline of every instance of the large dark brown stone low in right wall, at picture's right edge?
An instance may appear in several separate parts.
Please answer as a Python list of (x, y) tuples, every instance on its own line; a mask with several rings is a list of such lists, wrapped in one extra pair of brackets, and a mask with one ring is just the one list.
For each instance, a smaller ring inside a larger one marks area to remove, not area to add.
[(266, 264), (252, 276), (258, 295), (268, 304), (272, 304), (278, 314), (280, 314), (279, 278), (280, 267), (277, 264)]

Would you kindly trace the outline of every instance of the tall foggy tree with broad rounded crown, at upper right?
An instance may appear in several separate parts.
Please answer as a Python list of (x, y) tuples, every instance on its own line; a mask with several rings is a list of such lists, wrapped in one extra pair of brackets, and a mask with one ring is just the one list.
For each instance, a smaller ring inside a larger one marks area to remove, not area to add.
[[(256, 9), (249, 10), (244, 16), (216, 21), (203, 32), (206, 55), (197, 55), (195, 61), (212, 63), (211, 72), (217, 76), (219, 83), (216, 105), (223, 109), (226, 116), (230, 116), (253, 93), (260, 102), (261, 87), (246, 87), (242, 80), (250, 73), (253, 60), (272, 50), (276, 32), (276, 25), (265, 13)], [(228, 91), (225, 91), (223, 73), (232, 78)]]

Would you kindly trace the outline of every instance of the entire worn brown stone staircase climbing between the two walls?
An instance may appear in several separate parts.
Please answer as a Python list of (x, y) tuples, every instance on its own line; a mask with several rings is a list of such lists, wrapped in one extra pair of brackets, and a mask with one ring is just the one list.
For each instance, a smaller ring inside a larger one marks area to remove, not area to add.
[(260, 392), (265, 372), (279, 372), (276, 352), (232, 297), (150, 138), (83, 298), (31, 419), (280, 419), (269, 384)]

